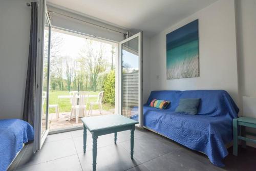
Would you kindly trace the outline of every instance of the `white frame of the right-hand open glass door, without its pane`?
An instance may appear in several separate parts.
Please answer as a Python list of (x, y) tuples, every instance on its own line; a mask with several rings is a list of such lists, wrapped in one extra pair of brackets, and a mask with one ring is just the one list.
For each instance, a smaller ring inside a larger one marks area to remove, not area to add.
[(138, 54), (139, 54), (139, 127), (143, 128), (143, 32), (134, 34), (133, 36), (126, 38), (119, 42), (119, 56), (118, 56), (118, 114), (122, 114), (122, 44), (138, 37)]

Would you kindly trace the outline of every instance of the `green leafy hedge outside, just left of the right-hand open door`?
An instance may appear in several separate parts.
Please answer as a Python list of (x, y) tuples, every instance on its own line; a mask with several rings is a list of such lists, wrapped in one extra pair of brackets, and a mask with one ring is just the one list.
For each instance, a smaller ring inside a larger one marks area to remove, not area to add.
[(103, 81), (103, 102), (115, 105), (115, 71), (112, 70)]

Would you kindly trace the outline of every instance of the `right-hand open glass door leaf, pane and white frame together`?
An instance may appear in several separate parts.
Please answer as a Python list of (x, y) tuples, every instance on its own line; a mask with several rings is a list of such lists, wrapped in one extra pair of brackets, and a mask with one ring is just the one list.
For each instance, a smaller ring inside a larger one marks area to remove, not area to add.
[(143, 127), (142, 33), (120, 42), (120, 114)]

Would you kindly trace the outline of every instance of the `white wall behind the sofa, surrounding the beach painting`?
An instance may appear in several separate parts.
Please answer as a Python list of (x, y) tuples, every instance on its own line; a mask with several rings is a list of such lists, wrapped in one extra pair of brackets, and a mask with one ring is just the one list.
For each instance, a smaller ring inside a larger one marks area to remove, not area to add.
[[(195, 19), (199, 19), (200, 77), (167, 80), (166, 34)], [(220, 0), (152, 37), (151, 91), (223, 89), (238, 102), (235, 24), (234, 1)]]

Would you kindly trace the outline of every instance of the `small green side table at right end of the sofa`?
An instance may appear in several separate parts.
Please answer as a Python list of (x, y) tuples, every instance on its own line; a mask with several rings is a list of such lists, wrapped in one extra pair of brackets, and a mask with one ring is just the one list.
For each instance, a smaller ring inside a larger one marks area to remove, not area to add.
[[(238, 127), (239, 125), (242, 127), (241, 129), (241, 136), (238, 135)], [(246, 147), (246, 141), (256, 143), (256, 140), (246, 138), (246, 131), (245, 127), (253, 127), (256, 128), (256, 118), (249, 118), (249, 117), (240, 117), (233, 119), (233, 155), (238, 155), (238, 140), (242, 140), (242, 147)], [(247, 133), (248, 134), (248, 133)], [(254, 134), (251, 134), (254, 135)]]

